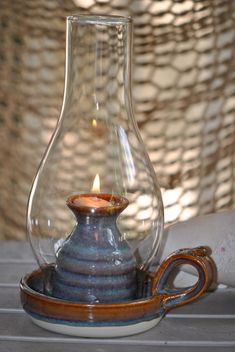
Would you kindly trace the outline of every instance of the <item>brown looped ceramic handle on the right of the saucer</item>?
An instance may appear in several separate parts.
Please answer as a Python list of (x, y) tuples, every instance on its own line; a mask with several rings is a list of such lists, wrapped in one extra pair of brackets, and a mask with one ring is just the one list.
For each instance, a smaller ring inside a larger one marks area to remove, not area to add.
[[(211, 285), (213, 278), (213, 262), (207, 247), (181, 249), (164, 260), (156, 274), (152, 277), (152, 295), (162, 295), (165, 311), (184, 305), (199, 298)], [(166, 288), (172, 270), (182, 264), (189, 264), (198, 271), (198, 281), (190, 287), (171, 291)]]

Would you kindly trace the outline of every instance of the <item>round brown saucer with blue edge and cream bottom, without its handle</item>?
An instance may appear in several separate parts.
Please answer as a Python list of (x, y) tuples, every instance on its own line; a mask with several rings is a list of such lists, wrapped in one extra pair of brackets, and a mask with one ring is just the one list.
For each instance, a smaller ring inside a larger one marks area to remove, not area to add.
[[(53, 270), (47, 267), (45, 270)], [(161, 295), (120, 303), (79, 303), (43, 293), (42, 269), (20, 284), (24, 310), (47, 330), (81, 337), (121, 337), (154, 327), (162, 318)]]

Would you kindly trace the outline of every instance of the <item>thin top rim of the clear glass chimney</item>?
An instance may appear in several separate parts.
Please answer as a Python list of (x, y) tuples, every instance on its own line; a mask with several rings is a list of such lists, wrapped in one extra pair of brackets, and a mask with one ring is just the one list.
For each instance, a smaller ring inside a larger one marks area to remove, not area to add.
[(93, 24), (128, 24), (132, 22), (130, 16), (118, 15), (95, 15), (95, 14), (78, 14), (66, 17), (67, 21), (78, 23)]

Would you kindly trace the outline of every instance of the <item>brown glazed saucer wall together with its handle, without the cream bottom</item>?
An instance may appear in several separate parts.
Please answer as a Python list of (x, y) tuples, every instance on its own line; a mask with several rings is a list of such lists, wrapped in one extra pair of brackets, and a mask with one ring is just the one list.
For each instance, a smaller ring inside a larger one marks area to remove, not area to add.
[[(169, 274), (179, 265), (190, 264), (198, 271), (198, 281), (185, 289), (166, 291)], [(147, 298), (118, 303), (80, 303), (46, 296), (30, 287), (42, 281), (47, 265), (26, 275), (20, 283), (21, 301), (26, 311), (61, 320), (80, 321), (131, 321), (162, 315), (164, 312), (199, 298), (211, 285), (215, 267), (208, 247), (185, 248), (172, 253), (155, 273), (148, 272), (152, 295)]]

